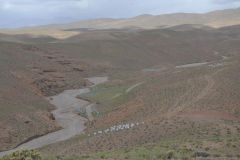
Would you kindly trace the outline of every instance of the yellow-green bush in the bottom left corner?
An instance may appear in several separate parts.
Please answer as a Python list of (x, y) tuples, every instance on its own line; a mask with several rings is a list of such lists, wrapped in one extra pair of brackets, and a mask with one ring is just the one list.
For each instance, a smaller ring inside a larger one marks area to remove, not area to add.
[(24, 149), (4, 156), (2, 160), (42, 160), (42, 156), (35, 150)]

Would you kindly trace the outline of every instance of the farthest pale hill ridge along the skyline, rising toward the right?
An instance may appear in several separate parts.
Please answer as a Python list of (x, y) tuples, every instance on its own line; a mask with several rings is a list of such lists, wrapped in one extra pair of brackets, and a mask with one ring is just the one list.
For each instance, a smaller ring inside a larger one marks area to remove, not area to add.
[(157, 29), (166, 28), (182, 24), (199, 24), (209, 27), (219, 28), (240, 24), (240, 8), (214, 11), (206, 14), (175, 13), (165, 15), (140, 15), (130, 19), (95, 19), (79, 21), (69, 24), (51, 24), (24, 29), (60, 29), (67, 30), (73, 28), (90, 29)]

